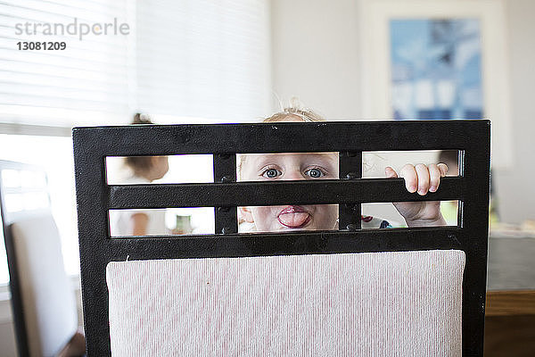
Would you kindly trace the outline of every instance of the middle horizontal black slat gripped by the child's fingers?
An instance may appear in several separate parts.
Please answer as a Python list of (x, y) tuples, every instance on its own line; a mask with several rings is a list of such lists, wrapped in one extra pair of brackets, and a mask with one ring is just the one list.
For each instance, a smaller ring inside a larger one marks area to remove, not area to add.
[(110, 186), (110, 209), (462, 200), (463, 178), (444, 178), (437, 192), (411, 194), (403, 179), (262, 181)]

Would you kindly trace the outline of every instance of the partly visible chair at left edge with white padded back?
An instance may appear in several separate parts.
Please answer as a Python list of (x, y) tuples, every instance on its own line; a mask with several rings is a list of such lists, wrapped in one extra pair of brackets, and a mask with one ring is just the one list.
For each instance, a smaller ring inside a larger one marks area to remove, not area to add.
[(0, 208), (19, 354), (70, 355), (70, 341), (79, 338), (78, 309), (63, 267), (45, 171), (0, 161)]

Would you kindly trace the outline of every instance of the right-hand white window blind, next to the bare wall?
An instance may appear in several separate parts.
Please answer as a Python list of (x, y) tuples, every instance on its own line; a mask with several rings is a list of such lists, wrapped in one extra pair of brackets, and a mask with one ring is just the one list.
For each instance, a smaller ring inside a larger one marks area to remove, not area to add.
[(266, 0), (139, 1), (136, 13), (141, 110), (167, 122), (258, 121), (268, 114)]

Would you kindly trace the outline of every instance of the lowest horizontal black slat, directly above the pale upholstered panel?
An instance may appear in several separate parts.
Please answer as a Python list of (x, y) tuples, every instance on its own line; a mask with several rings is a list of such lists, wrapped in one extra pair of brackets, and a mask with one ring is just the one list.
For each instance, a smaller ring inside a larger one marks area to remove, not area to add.
[(121, 237), (106, 239), (110, 261), (243, 257), (312, 253), (399, 252), (461, 249), (461, 228), (364, 229), (280, 234)]

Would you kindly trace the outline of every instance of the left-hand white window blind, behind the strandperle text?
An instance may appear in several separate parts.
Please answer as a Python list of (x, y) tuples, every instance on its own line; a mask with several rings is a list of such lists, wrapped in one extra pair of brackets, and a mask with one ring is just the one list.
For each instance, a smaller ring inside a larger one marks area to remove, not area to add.
[[(131, 103), (132, 37), (86, 35), (80, 40), (79, 26), (114, 19), (128, 23), (133, 6), (130, 0), (1, 0), (0, 121), (67, 127), (119, 122)], [(67, 26), (75, 19), (78, 26), (71, 31), (78, 33), (70, 35)], [(64, 27), (63, 34), (56, 23)], [(45, 24), (53, 35), (44, 34)], [(66, 49), (21, 51), (19, 41), (64, 41)]]

